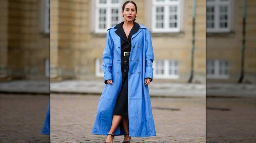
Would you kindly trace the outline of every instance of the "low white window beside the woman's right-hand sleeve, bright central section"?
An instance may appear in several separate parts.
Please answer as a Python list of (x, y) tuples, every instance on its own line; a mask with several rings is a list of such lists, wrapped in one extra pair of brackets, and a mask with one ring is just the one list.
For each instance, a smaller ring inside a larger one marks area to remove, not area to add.
[(177, 79), (179, 78), (179, 64), (177, 60), (154, 60), (154, 78)]

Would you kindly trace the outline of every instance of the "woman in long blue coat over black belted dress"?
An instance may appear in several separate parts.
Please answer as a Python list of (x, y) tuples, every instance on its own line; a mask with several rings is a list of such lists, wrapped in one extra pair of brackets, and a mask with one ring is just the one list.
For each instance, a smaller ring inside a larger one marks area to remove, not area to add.
[(102, 92), (92, 134), (155, 136), (148, 85), (153, 79), (151, 35), (135, 21), (137, 6), (127, 1), (122, 7), (124, 22), (108, 29), (103, 52), (105, 88)]

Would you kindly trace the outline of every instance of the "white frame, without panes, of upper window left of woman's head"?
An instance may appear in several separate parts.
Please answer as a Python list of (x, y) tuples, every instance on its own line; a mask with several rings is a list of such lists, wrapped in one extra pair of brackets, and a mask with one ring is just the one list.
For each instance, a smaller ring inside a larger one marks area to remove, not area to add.
[[(106, 0), (107, 3), (106, 4), (100, 4), (99, 3), (100, 0), (96, 0), (96, 8), (95, 8), (95, 13), (96, 13), (96, 16), (95, 16), (95, 33), (107, 33), (107, 29), (111, 28), (113, 25), (111, 24), (111, 9), (112, 8), (117, 8), (118, 9), (118, 19), (119, 19), (119, 22), (121, 22), (121, 16), (122, 16), (122, 8), (121, 8), (121, 0), (119, 0), (119, 3), (116, 3), (116, 4), (112, 4), (112, 0)], [(106, 28), (105, 29), (99, 29), (99, 9), (100, 8), (106, 8)]]

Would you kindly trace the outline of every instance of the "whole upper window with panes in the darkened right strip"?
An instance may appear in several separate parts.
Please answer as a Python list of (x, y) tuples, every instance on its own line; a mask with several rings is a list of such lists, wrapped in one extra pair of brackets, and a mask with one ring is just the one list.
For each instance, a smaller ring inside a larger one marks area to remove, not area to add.
[(206, 1), (206, 32), (230, 32), (231, 0)]

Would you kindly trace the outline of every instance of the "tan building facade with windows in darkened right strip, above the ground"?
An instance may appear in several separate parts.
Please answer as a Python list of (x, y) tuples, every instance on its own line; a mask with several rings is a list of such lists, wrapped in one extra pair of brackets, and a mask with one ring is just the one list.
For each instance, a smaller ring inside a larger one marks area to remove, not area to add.
[(255, 84), (255, 7), (254, 0), (206, 1), (207, 83)]

